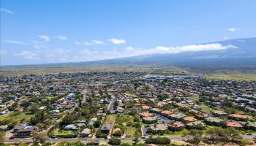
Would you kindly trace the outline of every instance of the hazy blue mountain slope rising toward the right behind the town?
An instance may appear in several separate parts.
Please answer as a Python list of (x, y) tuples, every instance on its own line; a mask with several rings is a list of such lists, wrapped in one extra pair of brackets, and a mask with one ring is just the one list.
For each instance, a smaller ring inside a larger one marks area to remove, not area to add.
[(171, 65), (192, 70), (245, 69), (256, 70), (256, 37), (227, 39), (207, 44), (220, 44), (222, 50), (184, 51), (181, 53), (155, 53), (102, 61), (85, 61), (64, 64), (41, 64), (29, 66), (80, 66), (80, 65)]

